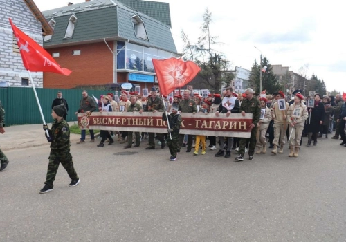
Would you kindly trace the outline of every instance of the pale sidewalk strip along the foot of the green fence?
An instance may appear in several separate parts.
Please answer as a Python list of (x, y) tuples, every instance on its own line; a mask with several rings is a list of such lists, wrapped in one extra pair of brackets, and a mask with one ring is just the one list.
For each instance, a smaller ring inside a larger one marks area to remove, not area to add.
[[(69, 122), (69, 125), (75, 124), (75, 121)], [(52, 127), (48, 123), (48, 127)], [(35, 147), (41, 145), (49, 146), (51, 143), (47, 141), (44, 136), (42, 124), (27, 124), (27, 125), (13, 125), (5, 127), (5, 133), (0, 133), (0, 148), (3, 151), (11, 149), (23, 149), (27, 147)], [(88, 138), (88, 136), (86, 136)], [(80, 139), (79, 134), (71, 133), (70, 140), (77, 142)]]

